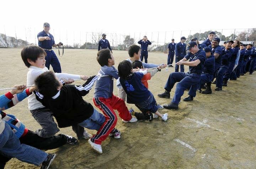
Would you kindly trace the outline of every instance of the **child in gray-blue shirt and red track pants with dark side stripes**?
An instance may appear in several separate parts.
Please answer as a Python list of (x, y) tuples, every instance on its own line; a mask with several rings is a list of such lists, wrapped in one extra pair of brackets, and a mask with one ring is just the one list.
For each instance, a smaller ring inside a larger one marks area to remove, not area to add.
[[(108, 135), (114, 135), (114, 138), (120, 138), (120, 131), (115, 129), (117, 123), (117, 116), (114, 110), (117, 110), (123, 122), (136, 122), (137, 118), (132, 117), (127, 109), (124, 100), (113, 95), (113, 79), (118, 78), (118, 72), (114, 68), (114, 57), (109, 49), (101, 49), (97, 53), (97, 61), (101, 65), (98, 75), (108, 75), (99, 77), (94, 93), (94, 104), (104, 114), (106, 120), (88, 142), (92, 148), (99, 147), (101, 149), (101, 142), (104, 141)], [(101, 151), (102, 152), (102, 151)]]

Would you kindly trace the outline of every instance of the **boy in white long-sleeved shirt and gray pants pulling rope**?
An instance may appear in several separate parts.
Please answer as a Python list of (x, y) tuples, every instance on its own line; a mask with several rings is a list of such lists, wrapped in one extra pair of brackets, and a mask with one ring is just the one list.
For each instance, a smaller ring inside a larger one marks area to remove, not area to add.
[[(45, 57), (46, 52), (41, 47), (31, 45), (22, 49), (21, 58), (29, 69), (27, 72), (28, 86), (32, 86), (34, 84), (34, 80), (38, 75), (49, 71), (45, 66)], [(71, 75), (65, 73), (56, 73), (56, 76), (59, 79), (65, 80), (87, 80), (86, 76)], [(37, 101), (34, 94), (31, 94), (28, 97), (28, 109), (32, 113), (34, 119), (42, 126), (42, 129), (38, 129), (36, 131), (39, 136), (48, 138), (59, 132), (57, 124), (53, 120), (53, 113), (45, 106), (43, 106), (39, 101)], [(83, 138), (89, 139), (91, 136), (91, 134), (84, 131)]]

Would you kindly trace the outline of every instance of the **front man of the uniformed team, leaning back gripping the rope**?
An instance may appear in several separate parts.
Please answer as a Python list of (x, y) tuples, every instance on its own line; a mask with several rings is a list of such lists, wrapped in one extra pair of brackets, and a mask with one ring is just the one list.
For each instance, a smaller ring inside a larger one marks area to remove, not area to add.
[[(193, 54), (193, 56), (190, 58), (184, 57), (177, 62), (177, 64), (188, 65), (189, 72), (171, 73), (165, 84), (165, 92), (158, 94), (159, 97), (170, 98), (171, 89), (174, 87), (176, 82), (179, 82), (176, 85), (174, 98), (172, 99), (171, 103), (164, 105), (165, 109), (178, 109), (178, 103), (180, 102), (181, 96), (184, 94), (184, 91), (187, 88), (190, 88), (190, 91), (188, 92), (190, 96), (183, 99), (184, 101), (191, 101), (193, 100), (193, 97), (196, 96), (197, 84), (201, 78), (204, 62), (206, 60), (206, 53), (202, 49), (198, 48), (196, 42), (189, 42), (188, 50)], [(190, 59), (190, 62), (185, 62), (188, 59)]]

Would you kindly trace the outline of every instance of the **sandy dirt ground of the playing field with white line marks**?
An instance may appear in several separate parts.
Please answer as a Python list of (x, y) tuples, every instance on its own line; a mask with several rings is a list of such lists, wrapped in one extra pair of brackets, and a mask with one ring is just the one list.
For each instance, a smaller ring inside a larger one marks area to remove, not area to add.
[[(1, 88), (26, 84), (28, 69), (20, 52), (21, 49), (0, 49)], [(96, 75), (100, 69), (96, 53), (96, 50), (65, 49), (64, 57), (59, 57), (62, 71)], [(120, 61), (128, 58), (128, 52), (113, 51), (113, 56), (117, 68)], [(166, 60), (167, 54), (149, 53), (149, 63), (161, 64)], [(169, 103), (172, 99), (158, 98), (157, 94), (164, 92), (167, 77), (173, 71), (174, 68), (169, 68), (168, 72), (163, 69), (149, 81), (149, 90), (160, 104)], [(119, 118), (117, 129), (122, 133), (121, 139), (107, 138), (102, 144), (101, 155), (92, 150), (87, 140), (81, 140), (77, 145), (48, 150), (57, 153), (50, 168), (256, 168), (255, 82), (256, 72), (228, 82), (223, 91), (213, 90), (210, 95), (197, 93), (194, 101), (181, 101), (178, 110), (160, 110), (169, 114), (166, 122), (156, 119), (152, 122), (122, 123)], [(171, 97), (174, 92), (175, 87)], [(93, 94), (94, 88), (84, 97), (92, 105)], [(117, 95), (116, 87), (114, 94)], [(185, 91), (181, 100), (187, 95)], [(138, 111), (134, 105), (127, 104), (127, 107)], [(28, 111), (27, 99), (5, 112), (15, 115), (30, 130), (40, 128)], [(76, 136), (71, 127), (61, 128), (59, 133)], [(12, 159), (6, 168), (39, 167)]]

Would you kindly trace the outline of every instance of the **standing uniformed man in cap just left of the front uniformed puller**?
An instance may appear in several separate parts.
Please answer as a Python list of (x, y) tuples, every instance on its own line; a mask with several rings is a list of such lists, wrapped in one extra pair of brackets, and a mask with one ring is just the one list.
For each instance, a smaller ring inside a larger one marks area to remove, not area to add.
[[(178, 42), (175, 46), (175, 55), (176, 55), (176, 63), (179, 62), (181, 59), (184, 58), (186, 55), (186, 43), (184, 43), (186, 40), (186, 37), (182, 36), (181, 41)], [(184, 72), (184, 65), (180, 65), (181, 72)], [(175, 72), (178, 72), (179, 65), (175, 65)]]

